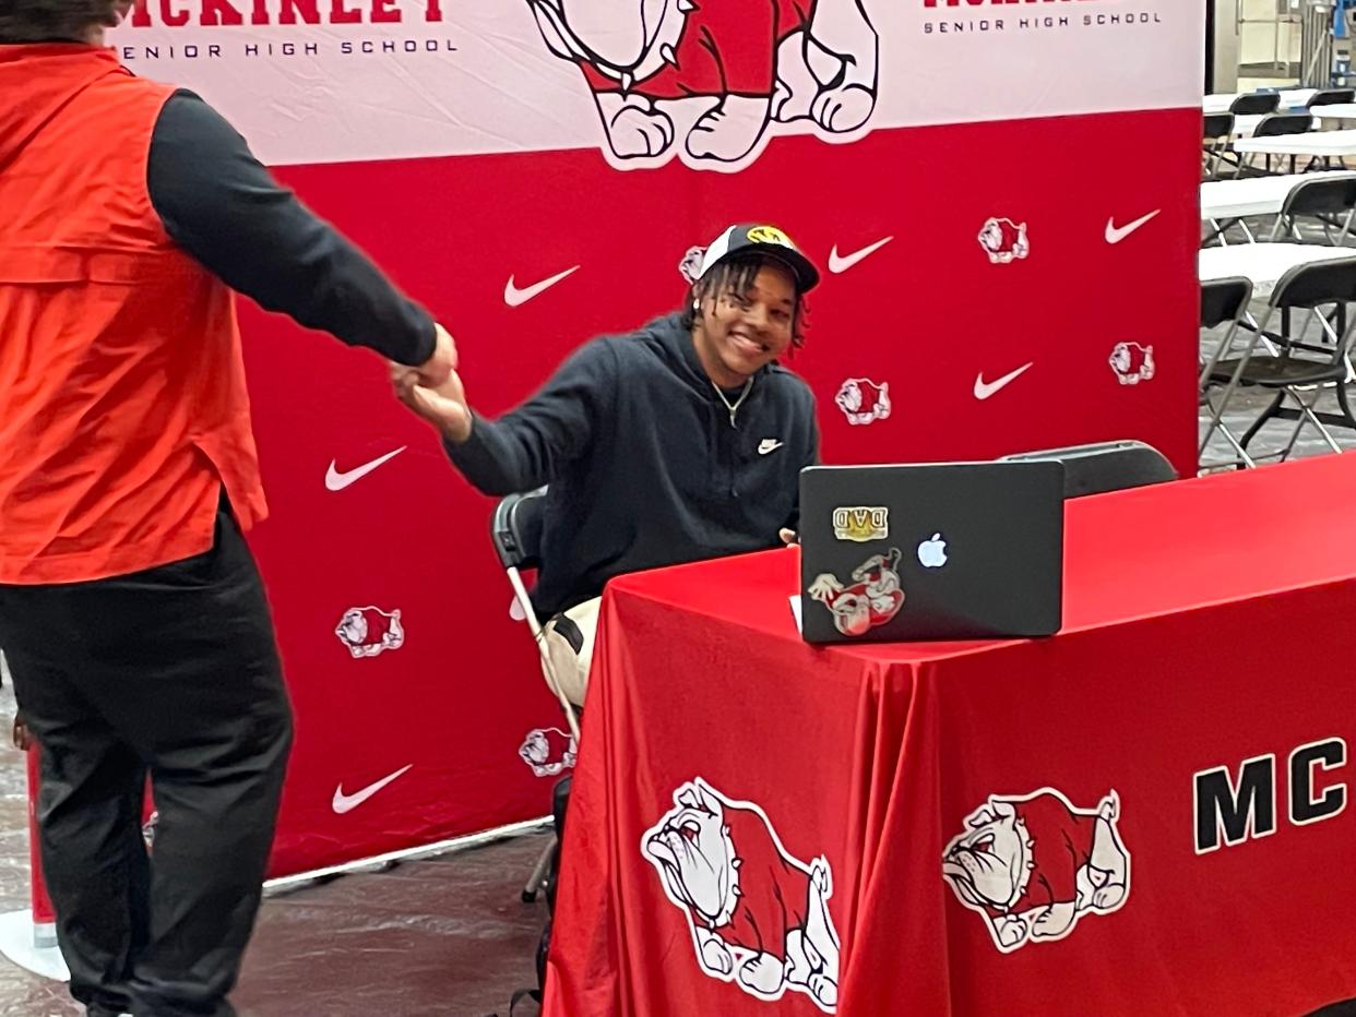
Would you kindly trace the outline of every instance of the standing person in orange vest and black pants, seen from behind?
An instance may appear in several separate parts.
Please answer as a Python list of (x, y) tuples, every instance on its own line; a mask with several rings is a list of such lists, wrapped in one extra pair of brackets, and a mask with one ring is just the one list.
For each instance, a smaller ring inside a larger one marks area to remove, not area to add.
[(0, 4), (0, 647), (72, 995), (220, 1017), (292, 743), (232, 290), (420, 384), (456, 348), (202, 99), (119, 64), (129, 7)]

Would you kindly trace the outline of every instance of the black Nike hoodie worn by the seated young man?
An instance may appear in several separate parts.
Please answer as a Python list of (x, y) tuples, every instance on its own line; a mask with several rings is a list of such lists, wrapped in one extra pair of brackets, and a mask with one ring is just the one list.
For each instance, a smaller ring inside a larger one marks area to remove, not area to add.
[(763, 367), (731, 420), (678, 315), (586, 343), (530, 400), (447, 445), (485, 494), (551, 485), (542, 617), (625, 572), (776, 546), (818, 454), (805, 382)]

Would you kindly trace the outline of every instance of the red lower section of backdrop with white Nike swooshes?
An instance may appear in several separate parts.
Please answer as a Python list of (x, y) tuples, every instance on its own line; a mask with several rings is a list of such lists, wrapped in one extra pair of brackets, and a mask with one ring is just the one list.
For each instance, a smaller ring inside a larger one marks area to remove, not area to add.
[[(678, 306), (690, 247), (769, 218), (824, 268), (791, 366), (815, 391), (826, 461), (1140, 438), (1189, 472), (1197, 121), (1186, 110), (900, 129), (852, 146), (785, 138), (735, 175), (678, 163), (618, 174), (574, 151), (282, 176), (447, 324), (484, 414), (529, 396), (589, 338)], [(1154, 151), (1154, 172), (1079, 168), (1079, 153), (1116, 149)], [(997, 251), (982, 240), (990, 220)], [(521, 293), (563, 273), (506, 301), (510, 279)], [(509, 616), (491, 500), (392, 400), (374, 357), (256, 312), (244, 330), (273, 506), (252, 542), (298, 715), (274, 872), (544, 814), (549, 780), (519, 747), (564, 725)], [(374, 633), (358, 654), (336, 635), (355, 609)], [(397, 612), (399, 639), (381, 618)]]

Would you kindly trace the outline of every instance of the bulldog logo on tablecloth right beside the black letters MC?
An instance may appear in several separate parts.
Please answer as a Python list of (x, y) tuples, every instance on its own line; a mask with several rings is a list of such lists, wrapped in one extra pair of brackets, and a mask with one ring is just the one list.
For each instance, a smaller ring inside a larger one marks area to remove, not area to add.
[(1086, 811), (1054, 788), (993, 796), (946, 845), (942, 876), (1003, 953), (1062, 940), (1083, 915), (1111, 914), (1130, 898), (1119, 818), (1115, 791)]

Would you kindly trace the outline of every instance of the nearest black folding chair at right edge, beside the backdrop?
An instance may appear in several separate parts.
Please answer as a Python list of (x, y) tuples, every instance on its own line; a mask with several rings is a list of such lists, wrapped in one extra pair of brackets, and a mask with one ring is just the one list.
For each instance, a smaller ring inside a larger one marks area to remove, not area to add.
[[(1215, 416), (1224, 415), (1230, 399), (1239, 388), (1275, 392), (1271, 404), (1243, 434), (1241, 442), (1243, 449), (1268, 420), (1279, 418), (1296, 422), (1290, 441), (1280, 453), (1253, 456), (1253, 460), (1271, 456), (1287, 460), (1306, 423), (1311, 424), (1328, 447), (1337, 453), (1342, 449), (1325, 424), (1356, 430), (1356, 418), (1352, 416), (1347, 396), (1347, 382), (1353, 377), (1351, 343), (1356, 331), (1356, 317), (1347, 323), (1345, 312), (1347, 305), (1353, 301), (1356, 301), (1356, 256), (1296, 266), (1276, 283), (1267, 302), (1267, 315), (1253, 332), (1243, 355), (1230, 359), (1231, 350), (1229, 347), (1220, 350), (1220, 357), (1210, 372), (1214, 381), (1224, 385)], [(1322, 312), (1326, 306), (1333, 308), (1330, 313)], [(1302, 330), (1299, 336), (1280, 336), (1275, 353), (1256, 354), (1257, 343), (1267, 336), (1267, 327), (1276, 312), (1295, 309), (1310, 312), (1318, 321), (1321, 342), (1304, 342)], [(1319, 414), (1314, 410), (1328, 385), (1336, 386), (1340, 414)], [(1313, 392), (1313, 397), (1306, 400), (1306, 392)], [(1284, 405), (1287, 399), (1294, 400), (1294, 408)]]

